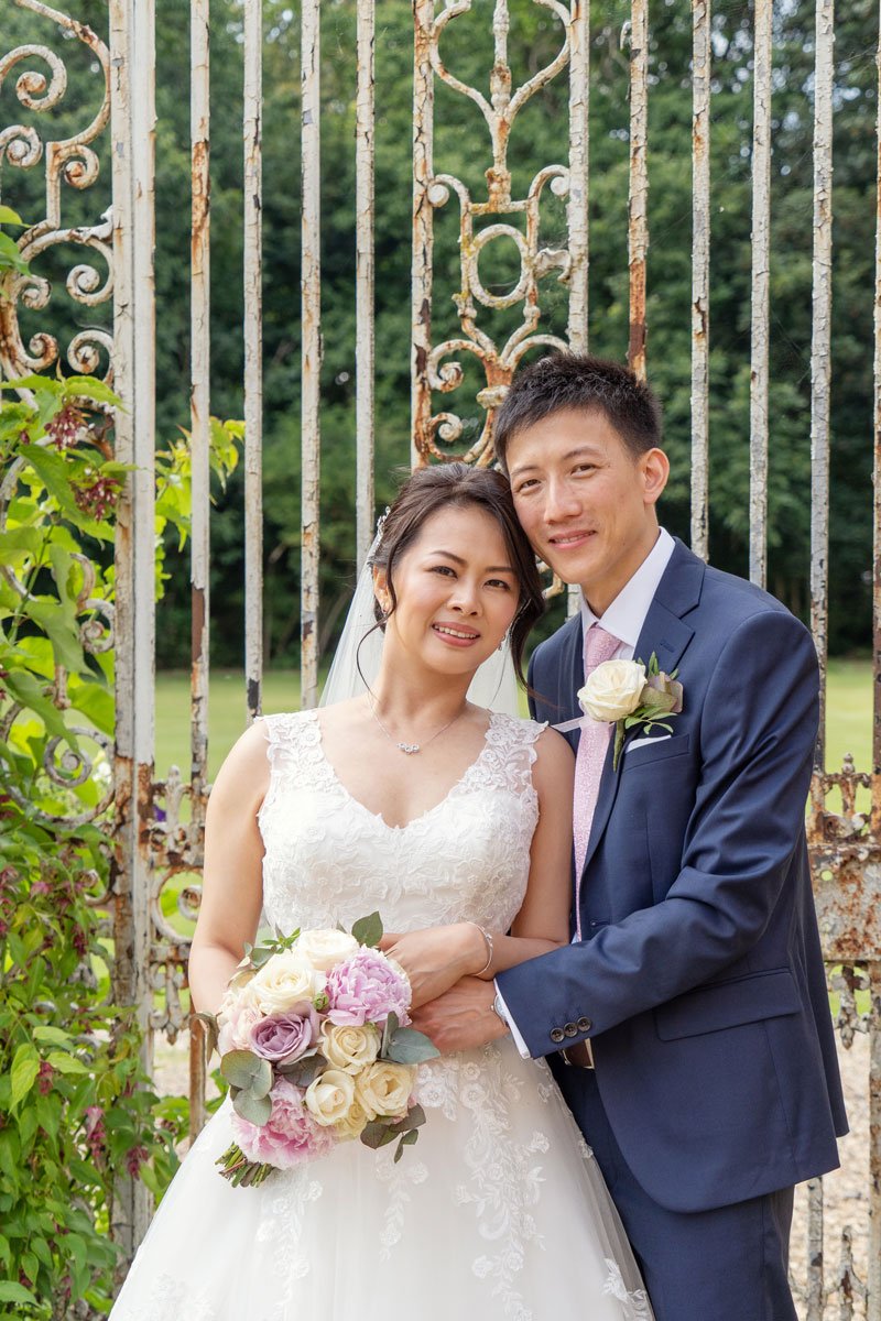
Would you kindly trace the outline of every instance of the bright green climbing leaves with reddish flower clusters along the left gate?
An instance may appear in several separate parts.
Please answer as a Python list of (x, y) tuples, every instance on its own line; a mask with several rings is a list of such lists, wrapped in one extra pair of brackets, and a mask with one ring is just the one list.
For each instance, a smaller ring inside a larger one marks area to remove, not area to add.
[[(161, 1196), (186, 1114), (152, 1094), (135, 1011), (110, 1003), (118, 400), (79, 376), (0, 390), (0, 1303), (55, 1318), (107, 1310), (114, 1181)], [(211, 435), (225, 480), (240, 427)], [(185, 439), (157, 470), (161, 580), (164, 535), (189, 532)]]

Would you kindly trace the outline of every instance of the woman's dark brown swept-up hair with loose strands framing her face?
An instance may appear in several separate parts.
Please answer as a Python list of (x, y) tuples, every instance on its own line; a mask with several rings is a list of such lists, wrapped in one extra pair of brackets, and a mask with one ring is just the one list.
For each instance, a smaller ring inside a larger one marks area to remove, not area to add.
[[(468, 464), (433, 464), (417, 468), (402, 486), (395, 503), (382, 524), (379, 546), (371, 565), (386, 573), (391, 614), (396, 605), (394, 571), (402, 555), (412, 546), (425, 520), (442, 509), (478, 509), (498, 524), (505, 539), (505, 547), (511, 557), (520, 589), (516, 614), (511, 621), (511, 657), (518, 680), (523, 679), (523, 649), (535, 621), (544, 613), (542, 579), (539, 576), (535, 552), (528, 543), (514, 511), (514, 499), (507, 480), (489, 468), (470, 468)], [(386, 618), (374, 602), (376, 624), (380, 629)]]

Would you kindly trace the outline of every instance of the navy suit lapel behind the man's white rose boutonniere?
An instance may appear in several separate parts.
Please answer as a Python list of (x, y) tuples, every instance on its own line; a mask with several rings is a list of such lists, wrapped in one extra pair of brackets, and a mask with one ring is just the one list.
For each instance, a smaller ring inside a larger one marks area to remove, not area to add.
[[(646, 614), (645, 624), (639, 631), (639, 638), (634, 649), (634, 660), (642, 660), (647, 667), (654, 651), (658, 657), (658, 666), (667, 674), (679, 664), (686, 647), (695, 635), (695, 630), (691, 625), (686, 624), (682, 616), (687, 614), (689, 610), (697, 605), (700, 600), (700, 589), (704, 581), (704, 561), (697, 559), (696, 555), (683, 546), (683, 543), (676, 538), (676, 544), (674, 552), (670, 557), (670, 563), (664, 569), (663, 577), (658, 584), (658, 590), (649, 606), (649, 613)], [(614, 801), (618, 793), (618, 785), (621, 782), (621, 762), (618, 762), (618, 769), (612, 769), (613, 761), (613, 748), (614, 748), (614, 731), (612, 738), (609, 740), (609, 752), (606, 753), (606, 760), (602, 766), (602, 778), (600, 779), (600, 793), (597, 795), (597, 806), (593, 812), (593, 822), (590, 823), (590, 838), (588, 839), (588, 849), (584, 859), (584, 869), (581, 875), (590, 864), (597, 844), (602, 839), (602, 834), (609, 824), (609, 818), (612, 815), (612, 808), (614, 807)]]

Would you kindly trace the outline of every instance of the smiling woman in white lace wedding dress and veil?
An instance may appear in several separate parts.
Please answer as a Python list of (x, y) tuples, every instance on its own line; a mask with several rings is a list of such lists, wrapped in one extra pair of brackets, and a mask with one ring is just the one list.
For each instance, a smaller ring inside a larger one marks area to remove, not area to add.
[[(378, 909), (413, 1005), (568, 939), (571, 752), (555, 731), (468, 700), (478, 670), (487, 705), (497, 676), (520, 674), (542, 612), (507, 482), (464, 464), (415, 473), (363, 584), (375, 624), (363, 647), (343, 639), (332, 675), (335, 691), (361, 692), (256, 721), (218, 774), (190, 955), (199, 1009), (218, 1009), (262, 910), (291, 931), (349, 929)], [(357, 598), (358, 645), (359, 614)], [(493, 1036), (421, 1066), (427, 1123), (399, 1164), (391, 1147), (353, 1141), (232, 1188), (215, 1166), (227, 1098), (112, 1321), (650, 1321), (547, 1066), (520, 1058), (502, 1017)]]

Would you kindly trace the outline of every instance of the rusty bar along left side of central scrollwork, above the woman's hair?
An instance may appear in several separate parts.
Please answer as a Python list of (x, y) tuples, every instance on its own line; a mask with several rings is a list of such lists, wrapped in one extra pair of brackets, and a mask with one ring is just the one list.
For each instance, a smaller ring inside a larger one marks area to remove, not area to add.
[(428, 462), (432, 400), (427, 384), (432, 350), (435, 81), (432, 77), (433, 0), (415, 0), (413, 38), (413, 258), (411, 276), (411, 466)]

